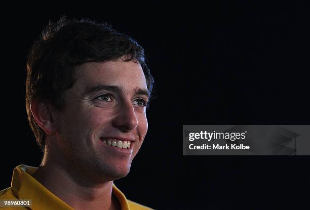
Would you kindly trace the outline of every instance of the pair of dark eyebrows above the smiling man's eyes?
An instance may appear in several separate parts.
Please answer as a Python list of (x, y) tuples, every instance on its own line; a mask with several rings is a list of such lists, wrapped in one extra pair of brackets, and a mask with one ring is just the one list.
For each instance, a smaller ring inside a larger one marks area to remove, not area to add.
[[(111, 92), (114, 92), (114, 93), (117, 93), (117, 94), (125, 92), (124, 88), (122, 88), (122, 87), (119, 87), (119, 86), (108, 86), (108, 85), (105, 85), (105, 84), (101, 83), (101, 84), (98, 84), (98, 85), (86, 88), (84, 93), (82, 93), (82, 96), (88, 96), (88, 95), (97, 93), (99, 91), (111, 91)], [(144, 95), (144, 96), (150, 97), (150, 93), (149, 93), (148, 90), (140, 89), (140, 88), (135, 89), (135, 95)]]

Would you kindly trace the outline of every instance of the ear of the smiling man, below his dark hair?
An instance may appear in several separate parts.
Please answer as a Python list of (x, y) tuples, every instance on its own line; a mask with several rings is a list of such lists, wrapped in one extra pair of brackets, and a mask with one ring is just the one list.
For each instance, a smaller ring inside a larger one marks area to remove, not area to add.
[(32, 101), (30, 110), (36, 123), (42, 128), (45, 133), (53, 135), (56, 132), (56, 124), (53, 117), (53, 106), (44, 101)]

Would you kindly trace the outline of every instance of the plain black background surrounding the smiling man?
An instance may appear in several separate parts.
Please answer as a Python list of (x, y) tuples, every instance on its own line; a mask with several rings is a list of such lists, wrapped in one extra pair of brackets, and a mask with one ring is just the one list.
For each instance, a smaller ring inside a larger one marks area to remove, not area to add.
[(181, 142), (182, 124), (309, 124), (309, 4), (142, 4), (7, 8), (0, 188), (18, 164), (41, 162), (26, 118), (26, 54), (49, 20), (66, 15), (133, 36), (156, 80), (147, 137), (115, 181), (129, 199), (156, 209), (309, 207), (309, 156), (182, 156)]

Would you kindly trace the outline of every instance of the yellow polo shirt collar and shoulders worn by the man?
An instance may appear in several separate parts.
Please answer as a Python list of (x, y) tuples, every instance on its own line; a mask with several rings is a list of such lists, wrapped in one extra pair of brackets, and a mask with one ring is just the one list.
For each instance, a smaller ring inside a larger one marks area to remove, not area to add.
[[(0, 210), (73, 210), (71, 206), (63, 202), (31, 176), (36, 170), (37, 167), (18, 165), (13, 172), (11, 187), (0, 191), (0, 200), (32, 200), (31, 207), (0, 207)], [(128, 200), (114, 184), (112, 194), (119, 200), (122, 210), (151, 209)]]

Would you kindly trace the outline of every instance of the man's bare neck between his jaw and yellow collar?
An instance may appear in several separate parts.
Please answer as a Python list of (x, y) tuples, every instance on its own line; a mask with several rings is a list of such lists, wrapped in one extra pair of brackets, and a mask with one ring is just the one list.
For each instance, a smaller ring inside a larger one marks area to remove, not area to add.
[(63, 167), (44, 161), (32, 176), (74, 209), (112, 210), (120, 207), (117, 199), (112, 199), (113, 181), (92, 183), (92, 179), (74, 177)]

